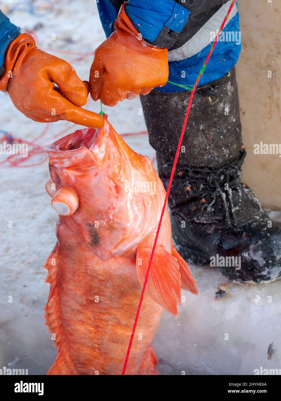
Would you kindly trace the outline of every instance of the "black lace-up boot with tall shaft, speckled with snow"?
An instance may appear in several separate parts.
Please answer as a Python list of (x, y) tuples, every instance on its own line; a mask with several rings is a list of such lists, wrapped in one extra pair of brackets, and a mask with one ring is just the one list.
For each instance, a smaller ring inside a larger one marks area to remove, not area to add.
[[(165, 188), (189, 96), (153, 90), (141, 97)], [(281, 223), (271, 222), (251, 188), (239, 182), (246, 152), (235, 69), (196, 90), (182, 146), (169, 196), (178, 251), (237, 282), (280, 277)]]

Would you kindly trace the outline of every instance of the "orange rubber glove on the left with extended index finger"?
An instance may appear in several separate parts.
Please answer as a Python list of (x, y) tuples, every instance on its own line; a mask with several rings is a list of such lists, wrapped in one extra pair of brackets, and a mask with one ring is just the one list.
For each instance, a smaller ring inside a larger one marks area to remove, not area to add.
[(31, 35), (20, 34), (10, 43), (4, 68), (0, 89), (8, 91), (26, 117), (38, 122), (63, 119), (86, 127), (103, 126), (101, 115), (79, 107), (86, 104), (87, 83), (69, 63), (37, 49)]

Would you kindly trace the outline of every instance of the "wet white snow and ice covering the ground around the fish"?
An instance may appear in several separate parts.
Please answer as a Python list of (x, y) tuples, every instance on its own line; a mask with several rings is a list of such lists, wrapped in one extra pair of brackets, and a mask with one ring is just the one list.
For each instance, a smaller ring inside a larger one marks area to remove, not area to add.
[[(5, 7), (7, 4), (5, 2)], [(58, 49), (88, 53), (104, 40), (96, 4), (93, 0), (61, 0), (56, 4), (56, 12), (45, 18), (20, 11), (12, 13), (10, 18), (23, 32), (41, 23), (42, 27), (35, 31), (37, 46), (43, 50), (53, 48), (49, 53), (65, 58), (81, 79), (88, 79), (91, 56), (79, 60), (79, 55), (62, 53)], [(1, 2), (4, 12), (5, 7)], [(53, 33), (56, 41), (51, 40)], [(98, 102), (90, 101), (88, 107), (99, 112)], [(8, 95), (2, 93), (0, 108), (1, 129), (15, 137), (31, 141), (45, 128), (24, 117), (14, 108)], [(138, 99), (124, 101), (114, 108), (104, 107), (119, 133), (146, 130), (139, 109)], [(65, 134), (74, 131), (71, 123), (50, 124), (48, 132), (38, 142), (46, 146), (68, 127)], [(137, 152), (154, 157), (147, 136), (124, 139)], [(4, 156), (0, 157), (3, 160)], [(33, 162), (38, 160), (39, 156), (32, 159)], [(22, 368), (28, 369), (29, 374), (42, 375), (56, 355), (42, 312), (49, 284), (44, 284), (47, 271), (41, 267), (55, 245), (57, 221), (44, 190), (48, 178), (47, 162), (31, 168), (0, 169), (0, 368)], [(272, 213), (271, 218), (274, 217), (280, 219), (281, 215)], [(8, 221), (12, 221), (12, 228), (8, 228)], [(199, 295), (182, 292), (186, 302), (177, 320), (166, 312), (163, 314), (154, 338), (160, 374), (181, 375), (185, 371), (188, 375), (253, 375), (254, 369), (260, 367), (280, 369), (281, 281), (248, 286), (230, 283), (231, 296), (216, 301), (218, 284), (227, 280), (216, 268), (190, 267)], [(8, 302), (10, 296), (12, 303)], [(227, 335), (228, 340), (225, 339)], [(277, 351), (268, 360), (267, 350), (272, 342)]]

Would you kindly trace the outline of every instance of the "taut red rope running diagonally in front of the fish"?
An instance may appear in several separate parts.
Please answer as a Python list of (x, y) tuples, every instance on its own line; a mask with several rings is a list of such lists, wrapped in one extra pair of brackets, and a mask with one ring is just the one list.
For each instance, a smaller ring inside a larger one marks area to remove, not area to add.
[(126, 354), (126, 357), (125, 357), (125, 362), (124, 362), (124, 366), (123, 366), (123, 370), (122, 370), (122, 375), (125, 375), (125, 371), (126, 371), (126, 367), (127, 367), (127, 363), (128, 363), (128, 359), (129, 359), (129, 354), (130, 354), (130, 351), (131, 351), (131, 346), (132, 346), (133, 338), (134, 338), (134, 335), (135, 335), (135, 328), (136, 328), (136, 326), (137, 326), (137, 320), (138, 320), (138, 318), (139, 318), (139, 312), (140, 312), (140, 309), (141, 309), (141, 307), (142, 307), (142, 301), (143, 301), (143, 298), (144, 298), (144, 292), (145, 292), (145, 290), (146, 290), (146, 284), (147, 284), (147, 282), (148, 282), (148, 275), (149, 275), (149, 272), (150, 272), (150, 268), (151, 268), (151, 264), (152, 264), (152, 259), (153, 259), (153, 256), (154, 256), (154, 251), (155, 251), (155, 248), (156, 248), (156, 243), (157, 243), (157, 240), (158, 240), (159, 231), (160, 231), (161, 224), (162, 224), (162, 219), (163, 219), (164, 212), (165, 212), (165, 209), (166, 209), (166, 205), (167, 205), (167, 201), (168, 201), (168, 196), (169, 196), (170, 188), (171, 188), (171, 185), (172, 185), (172, 180), (173, 180), (173, 178), (174, 178), (174, 174), (175, 174), (175, 170), (176, 170), (176, 164), (177, 164), (177, 161), (178, 161), (178, 156), (179, 156), (179, 154), (180, 154), (180, 147), (181, 147), (181, 145), (182, 145), (182, 140), (183, 140), (183, 137), (184, 137), (184, 131), (185, 131), (185, 129), (186, 129), (186, 124), (187, 124), (187, 120), (188, 120), (188, 115), (189, 115), (189, 113), (190, 113), (190, 108), (191, 108), (191, 104), (192, 104), (193, 95), (194, 95), (194, 92), (195, 92), (195, 90), (196, 90), (196, 87), (198, 86), (198, 83), (199, 83), (199, 81), (200, 81), (200, 78), (202, 77), (202, 74), (204, 73), (205, 67), (206, 67), (206, 65), (208, 64), (208, 61), (209, 61), (209, 59), (210, 59), (210, 56), (211, 56), (211, 54), (212, 54), (214, 48), (216, 47), (216, 43), (218, 42), (218, 38), (219, 38), (220, 32), (221, 32), (222, 29), (224, 28), (224, 25), (225, 25), (225, 23), (226, 23), (226, 20), (227, 20), (229, 14), (230, 14), (230, 12), (231, 12), (231, 10), (232, 10), (232, 8), (233, 8), (235, 2), (236, 2), (236, 0), (232, 0), (232, 3), (230, 4), (230, 7), (229, 7), (229, 9), (228, 9), (228, 12), (227, 12), (226, 16), (224, 17), (224, 20), (223, 20), (223, 22), (222, 22), (222, 24), (221, 24), (221, 26), (220, 26), (220, 30), (219, 30), (218, 34), (216, 35), (216, 38), (215, 38), (215, 40), (214, 40), (214, 42), (213, 42), (213, 44), (212, 44), (212, 47), (211, 47), (211, 49), (210, 49), (210, 51), (209, 51), (209, 53), (208, 53), (208, 56), (207, 56), (206, 60), (204, 61), (204, 64), (203, 64), (202, 68), (200, 69), (200, 73), (198, 74), (198, 77), (197, 77), (197, 79), (196, 79), (196, 82), (195, 82), (195, 84), (194, 84), (194, 87), (193, 87), (193, 89), (192, 89), (192, 91), (191, 91), (191, 93), (190, 93), (190, 98), (189, 98), (189, 102), (188, 102), (188, 107), (187, 107), (187, 110), (186, 110), (186, 115), (185, 115), (185, 117), (184, 117), (184, 124), (183, 124), (183, 126), (182, 126), (182, 132), (181, 132), (181, 134), (180, 134), (180, 140), (179, 140), (179, 142), (178, 142), (178, 148), (177, 148), (176, 156), (175, 156), (174, 162), (173, 162), (172, 172), (171, 172), (171, 176), (170, 176), (170, 180), (169, 180), (169, 184), (168, 184), (168, 188), (167, 188), (167, 192), (166, 192), (166, 196), (165, 196), (165, 201), (164, 201), (164, 205), (163, 205), (161, 217), (160, 217), (159, 224), (158, 224), (158, 228), (157, 228), (157, 232), (156, 232), (156, 237), (155, 237), (154, 244), (153, 244), (152, 253), (151, 253), (151, 256), (150, 256), (150, 261), (149, 261), (148, 269), (147, 269), (147, 272), (146, 272), (146, 277), (145, 277), (145, 279), (144, 279), (144, 286), (143, 286), (143, 288), (142, 288), (142, 294), (141, 294), (141, 296), (140, 296), (139, 304), (138, 304), (138, 306), (137, 306), (137, 313), (136, 313), (136, 315), (135, 315), (135, 321), (134, 321), (134, 324), (133, 324), (133, 330), (132, 330), (132, 332), (131, 332), (131, 337), (130, 337), (130, 341), (129, 341), (129, 345), (128, 345), (128, 349), (127, 349), (127, 354)]

